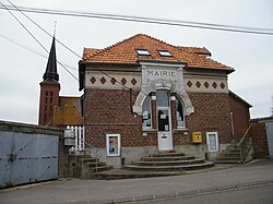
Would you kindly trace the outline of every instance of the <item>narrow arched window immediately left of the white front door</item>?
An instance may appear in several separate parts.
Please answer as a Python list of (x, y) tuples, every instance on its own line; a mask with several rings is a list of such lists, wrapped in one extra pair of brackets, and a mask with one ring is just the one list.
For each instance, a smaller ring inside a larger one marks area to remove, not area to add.
[(142, 105), (142, 128), (152, 128), (151, 95), (147, 95)]

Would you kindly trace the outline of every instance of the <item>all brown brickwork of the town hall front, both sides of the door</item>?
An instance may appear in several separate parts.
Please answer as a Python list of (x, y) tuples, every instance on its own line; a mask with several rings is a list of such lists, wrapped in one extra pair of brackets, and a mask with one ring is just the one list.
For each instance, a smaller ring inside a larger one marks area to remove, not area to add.
[[(105, 147), (106, 134), (121, 134), (122, 146), (157, 146), (156, 132), (142, 133), (142, 117), (132, 113), (131, 107), (139, 92), (126, 89), (85, 89), (85, 127), (86, 144)], [(193, 131), (201, 131), (205, 144), (205, 133), (218, 132), (219, 143), (229, 143), (232, 135), (229, 95), (216, 93), (188, 93), (194, 113), (186, 116), (185, 131), (175, 131), (174, 145), (191, 144)], [(155, 100), (152, 100), (156, 109)], [(174, 103), (173, 103), (173, 106)], [(171, 108), (174, 110), (174, 107)], [(153, 110), (156, 113), (156, 110)], [(173, 111), (175, 112), (175, 111)], [(153, 115), (154, 115), (153, 113)], [(155, 115), (156, 116), (156, 115)], [(153, 128), (156, 128), (156, 117), (153, 117)], [(176, 120), (173, 117), (173, 127)]]

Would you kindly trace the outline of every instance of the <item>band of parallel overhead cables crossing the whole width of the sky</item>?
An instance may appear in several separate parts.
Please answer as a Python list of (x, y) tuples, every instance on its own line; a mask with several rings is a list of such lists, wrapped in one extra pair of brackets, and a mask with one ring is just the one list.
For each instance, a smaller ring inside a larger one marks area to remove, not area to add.
[[(3, 8), (0, 8), (0, 9), (3, 9)], [(8, 9), (15, 10), (12, 7), (8, 7)], [(20, 7), (20, 11), (44, 13), (44, 14), (55, 14), (55, 15), (66, 15), (66, 16), (76, 16), (76, 17), (92, 17), (92, 19), (112, 20), (112, 21), (127, 21), (127, 22), (150, 23), (150, 24), (170, 25), (170, 26), (183, 26), (183, 27), (193, 27), (193, 28), (222, 31), (222, 32), (235, 32), (235, 33), (245, 33), (245, 34), (273, 35), (272, 28), (233, 26), (233, 25), (221, 25), (221, 24), (200, 23), (200, 22), (130, 16), (130, 15), (115, 15), (115, 14), (107, 14), (107, 13), (103, 14), (103, 13), (86, 13), (86, 12), (76, 12), (76, 11), (72, 12), (72, 11), (34, 9), (34, 8), (23, 8), (23, 7)]]

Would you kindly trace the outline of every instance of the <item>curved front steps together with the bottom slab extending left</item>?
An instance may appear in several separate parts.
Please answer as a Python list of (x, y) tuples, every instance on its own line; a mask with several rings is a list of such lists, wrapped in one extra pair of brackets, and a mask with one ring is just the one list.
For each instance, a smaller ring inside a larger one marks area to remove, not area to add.
[(139, 161), (96, 173), (97, 179), (132, 179), (185, 175), (188, 171), (213, 167), (214, 163), (182, 153), (158, 153), (142, 157)]

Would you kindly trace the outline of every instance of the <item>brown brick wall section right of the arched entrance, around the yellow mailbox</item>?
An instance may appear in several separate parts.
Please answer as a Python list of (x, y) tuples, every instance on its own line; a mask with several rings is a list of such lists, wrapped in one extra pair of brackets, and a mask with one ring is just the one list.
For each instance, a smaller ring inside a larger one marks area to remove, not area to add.
[(186, 116), (186, 128), (189, 134), (175, 134), (176, 145), (191, 143), (191, 134), (194, 131), (201, 131), (203, 143), (206, 143), (206, 132), (218, 132), (219, 143), (229, 143), (232, 135), (230, 109), (228, 104), (228, 94), (224, 93), (188, 93), (194, 113)]

